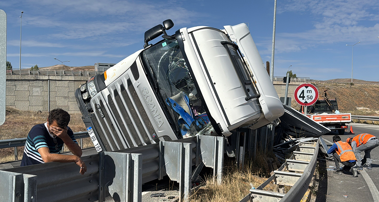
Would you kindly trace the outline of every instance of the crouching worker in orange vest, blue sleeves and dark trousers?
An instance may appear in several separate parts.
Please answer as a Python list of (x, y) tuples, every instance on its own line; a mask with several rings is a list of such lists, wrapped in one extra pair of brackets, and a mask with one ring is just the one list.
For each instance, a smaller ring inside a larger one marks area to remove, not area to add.
[(353, 174), (353, 177), (358, 177), (357, 169), (352, 168), (356, 164), (356, 157), (351, 146), (347, 142), (341, 141), (340, 136), (333, 136), (334, 144), (329, 148), (328, 154), (333, 153), (335, 171), (334, 174), (342, 175), (340, 169), (340, 163), (344, 165), (343, 169), (345, 171), (350, 171)]

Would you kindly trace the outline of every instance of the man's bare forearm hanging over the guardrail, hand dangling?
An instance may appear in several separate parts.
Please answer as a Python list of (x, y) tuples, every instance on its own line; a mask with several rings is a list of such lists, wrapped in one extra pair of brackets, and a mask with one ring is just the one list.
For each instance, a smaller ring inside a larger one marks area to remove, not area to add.
[(48, 162), (61, 162), (61, 163), (75, 162), (80, 167), (80, 171), (79, 171), (80, 174), (83, 175), (85, 172), (87, 172), (86, 164), (77, 156), (50, 153), (49, 147), (39, 148), (38, 153), (41, 154), (42, 160), (45, 163), (48, 163)]

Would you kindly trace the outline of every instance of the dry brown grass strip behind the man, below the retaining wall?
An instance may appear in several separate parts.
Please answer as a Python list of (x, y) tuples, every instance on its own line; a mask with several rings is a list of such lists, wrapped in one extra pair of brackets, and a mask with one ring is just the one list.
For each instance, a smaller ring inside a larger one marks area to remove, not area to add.
[[(49, 116), (48, 112), (38, 113), (36, 111), (20, 111), (14, 108), (6, 108), (5, 123), (0, 126), (0, 139), (26, 138), (30, 129), (36, 124), (45, 123)], [(81, 119), (81, 114), (70, 114), (69, 127), (74, 132), (85, 131), (86, 127)], [(78, 140), (80, 144), (80, 140)], [(92, 147), (89, 138), (83, 139), (83, 148)], [(64, 151), (68, 151), (65, 147)], [(22, 158), (23, 147), (17, 147), (18, 159)], [(2, 149), (0, 152), (0, 163), (14, 161), (14, 148)]]

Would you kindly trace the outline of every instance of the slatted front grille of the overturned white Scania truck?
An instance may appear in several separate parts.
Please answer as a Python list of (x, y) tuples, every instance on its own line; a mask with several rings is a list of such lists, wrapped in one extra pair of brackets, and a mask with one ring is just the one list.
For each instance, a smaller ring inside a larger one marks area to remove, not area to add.
[(107, 151), (159, 141), (159, 138), (152, 139), (153, 134), (155, 137), (157, 134), (132, 81), (127, 77), (124, 83), (124, 79), (120, 77), (108, 85), (108, 91), (91, 100), (95, 102), (94, 111), (98, 118), (94, 125)]

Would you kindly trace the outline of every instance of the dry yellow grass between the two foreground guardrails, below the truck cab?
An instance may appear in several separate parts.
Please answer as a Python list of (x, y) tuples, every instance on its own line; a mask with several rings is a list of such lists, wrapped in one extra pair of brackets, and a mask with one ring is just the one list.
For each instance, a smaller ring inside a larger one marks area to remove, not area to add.
[[(257, 188), (267, 180), (267, 156), (257, 153), (255, 161), (246, 160), (244, 168), (239, 170), (234, 158), (225, 158), (222, 184), (217, 185), (213, 176), (208, 176), (202, 186), (195, 188), (190, 197), (191, 202), (238, 202), (249, 193), (252, 187)], [(279, 186), (269, 183), (263, 190), (277, 192)], [(285, 193), (289, 188), (285, 188)]]

